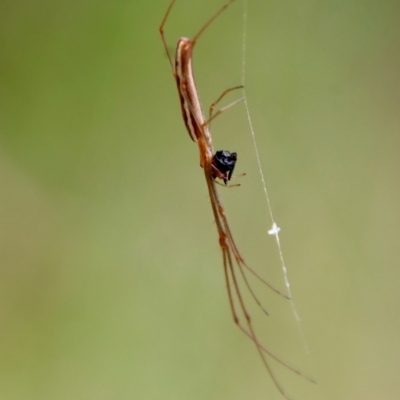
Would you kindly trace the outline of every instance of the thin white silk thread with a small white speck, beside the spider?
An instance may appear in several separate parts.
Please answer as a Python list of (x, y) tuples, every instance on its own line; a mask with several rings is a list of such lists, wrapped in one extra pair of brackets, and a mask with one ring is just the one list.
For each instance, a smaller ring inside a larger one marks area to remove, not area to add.
[(267, 204), (268, 204), (268, 210), (269, 210), (269, 215), (271, 216), (271, 221), (272, 221), (272, 228), (268, 231), (268, 233), (270, 235), (274, 235), (275, 239), (276, 239), (276, 244), (278, 246), (278, 251), (279, 251), (279, 258), (281, 260), (281, 267), (282, 267), (282, 271), (283, 271), (283, 276), (284, 276), (284, 280), (285, 280), (285, 285), (286, 285), (286, 289), (287, 289), (287, 293), (289, 295), (289, 297), (291, 298), (290, 300), (290, 304), (291, 304), (291, 308), (292, 308), (292, 313), (296, 319), (297, 322), (297, 327), (301, 336), (301, 341), (303, 343), (303, 348), (306, 354), (309, 354), (309, 348), (307, 345), (307, 341), (305, 339), (304, 336), (304, 332), (303, 332), (303, 328), (301, 326), (301, 320), (299, 317), (299, 314), (297, 313), (296, 307), (294, 305), (294, 301), (293, 301), (293, 297), (292, 297), (292, 292), (290, 290), (290, 283), (289, 283), (289, 278), (288, 278), (288, 272), (287, 272), (287, 268), (285, 265), (285, 260), (283, 258), (283, 252), (282, 252), (282, 247), (281, 247), (281, 242), (279, 239), (279, 231), (280, 228), (278, 227), (278, 225), (276, 224), (275, 220), (274, 220), (274, 215), (272, 213), (272, 207), (271, 207), (271, 201), (268, 195), (268, 190), (267, 190), (267, 185), (265, 183), (265, 177), (264, 177), (264, 172), (262, 169), (262, 165), (261, 165), (261, 159), (260, 159), (260, 154), (258, 152), (258, 145), (257, 145), (257, 141), (256, 141), (256, 135), (255, 135), (255, 131), (253, 128), (253, 123), (252, 123), (252, 119), (250, 116), (250, 110), (249, 110), (249, 106), (247, 103), (247, 94), (246, 94), (246, 85), (245, 85), (245, 77), (246, 77), (246, 42), (247, 42), (247, 9), (248, 9), (248, 3), (247, 0), (243, 0), (243, 41), (242, 41), (242, 85), (243, 85), (243, 97), (244, 97), (244, 106), (246, 109), (246, 114), (247, 114), (247, 120), (249, 122), (249, 127), (250, 127), (250, 131), (251, 131), (251, 137), (253, 139), (253, 146), (254, 146), (254, 151), (256, 153), (256, 157), (257, 157), (257, 163), (258, 163), (258, 169), (260, 172), (260, 176), (261, 176), (261, 182), (264, 188), (264, 194), (265, 194), (265, 198), (267, 200)]

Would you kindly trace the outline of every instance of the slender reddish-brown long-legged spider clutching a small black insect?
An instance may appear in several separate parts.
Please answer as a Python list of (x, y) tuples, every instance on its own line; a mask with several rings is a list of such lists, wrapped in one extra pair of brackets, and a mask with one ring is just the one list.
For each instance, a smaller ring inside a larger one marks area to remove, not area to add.
[[(217, 179), (220, 179), (224, 182), (225, 185), (232, 178), (233, 170), (235, 168), (235, 164), (237, 161), (237, 153), (230, 153), (226, 150), (219, 150), (214, 152), (212, 146), (212, 139), (210, 133), (210, 122), (216, 118), (218, 115), (222, 114), (228, 108), (234, 106), (243, 100), (243, 98), (238, 99), (231, 104), (220, 108), (218, 111), (214, 113), (214, 108), (218, 105), (222, 98), (224, 98), (229, 92), (233, 90), (242, 89), (243, 86), (235, 86), (233, 88), (225, 90), (219, 98), (211, 104), (209, 109), (208, 119), (204, 117), (204, 113), (200, 104), (199, 96), (197, 93), (194, 76), (193, 76), (193, 68), (192, 68), (192, 55), (193, 49), (197, 43), (197, 40), (201, 36), (201, 34), (207, 29), (207, 27), (226, 9), (234, 0), (228, 1), (225, 5), (223, 5), (197, 32), (197, 34), (192, 38), (181, 37), (178, 40), (176, 51), (175, 51), (175, 62), (173, 63), (171, 54), (168, 50), (167, 42), (164, 36), (164, 25), (168, 19), (169, 13), (172, 9), (172, 6), (175, 3), (175, 0), (172, 0), (159, 27), (161, 40), (163, 42), (165, 51), (167, 53), (169, 63), (171, 65), (172, 74), (176, 81), (176, 85), (178, 88), (179, 100), (181, 104), (182, 117), (186, 129), (189, 133), (190, 138), (197, 143), (200, 154), (200, 166), (203, 168), (204, 177), (207, 183), (208, 193), (210, 196), (210, 203), (212, 212), (214, 215), (218, 237), (219, 237), (219, 246), (222, 251), (222, 260), (224, 266), (224, 276), (226, 287), (228, 291), (228, 299), (229, 305), (232, 313), (233, 320), (235, 324), (239, 327), (241, 331), (243, 331), (255, 344), (255, 347), (262, 359), (262, 362), (267, 369), (272, 381), (274, 382), (276, 388), (279, 392), (286, 398), (289, 399), (288, 395), (284, 391), (282, 385), (277, 380), (274, 371), (272, 370), (269, 360), (267, 356), (275, 359), (277, 362), (284, 365), (289, 370), (294, 373), (308, 379), (311, 382), (315, 382), (312, 378), (308, 377), (304, 373), (299, 370), (291, 367), (286, 362), (282, 361), (280, 358), (275, 356), (272, 352), (270, 352), (266, 347), (264, 347), (258, 337), (256, 336), (251, 316), (246, 308), (239, 282), (238, 275), (242, 277), (243, 282), (247, 289), (249, 290), (251, 296), (258, 304), (259, 307), (266, 313), (267, 311), (262, 307), (261, 302), (257, 298), (256, 294), (252, 290), (249, 281), (246, 277), (245, 270), (249, 271), (251, 274), (256, 276), (261, 282), (263, 282), (270, 289), (278, 293), (279, 295), (290, 299), (289, 296), (281, 293), (279, 290), (275, 289), (271, 286), (266, 280), (264, 280), (257, 272), (255, 272), (250, 266), (246, 263), (243, 256), (241, 255), (238, 246), (233, 238), (231, 228), (228, 222), (228, 219), (225, 214), (225, 209), (222, 205), (221, 198), (219, 196), (216, 183), (219, 183)], [(236, 263), (236, 268), (235, 268)], [(243, 323), (239, 318), (239, 313), (236, 310), (236, 306), (234, 303), (234, 297), (239, 304), (239, 310), (241, 314), (243, 314), (245, 323)]]

